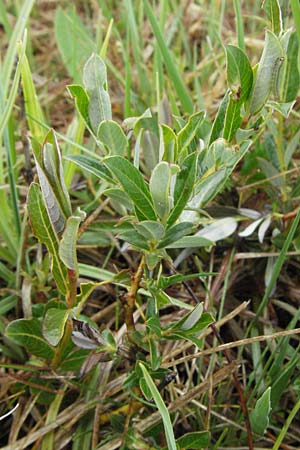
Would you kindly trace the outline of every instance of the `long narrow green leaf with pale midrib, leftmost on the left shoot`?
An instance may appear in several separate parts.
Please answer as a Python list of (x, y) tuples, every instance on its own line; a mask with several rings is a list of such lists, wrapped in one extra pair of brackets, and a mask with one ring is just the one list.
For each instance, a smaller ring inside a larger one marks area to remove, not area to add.
[(67, 270), (59, 258), (58, 238), (54, 233), (38, 184), (32, 183), (28, 192), (28, 213), (31, 226), (38, 240), (45, 244), (52, 257), (52, 273), (62, 294), (67, 292)]

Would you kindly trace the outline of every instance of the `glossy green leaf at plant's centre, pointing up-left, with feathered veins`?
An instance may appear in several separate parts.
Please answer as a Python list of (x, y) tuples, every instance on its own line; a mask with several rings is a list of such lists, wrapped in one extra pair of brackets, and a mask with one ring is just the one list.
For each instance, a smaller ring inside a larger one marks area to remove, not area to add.
[(133, 201), (139, 218), (141, 220), (143, 220), (142, 218), (156, 220), (156, 213), (149, 187), (138, 169), (121, 156), (111, 156), (110, 158), (106, 158), (104, 162)]

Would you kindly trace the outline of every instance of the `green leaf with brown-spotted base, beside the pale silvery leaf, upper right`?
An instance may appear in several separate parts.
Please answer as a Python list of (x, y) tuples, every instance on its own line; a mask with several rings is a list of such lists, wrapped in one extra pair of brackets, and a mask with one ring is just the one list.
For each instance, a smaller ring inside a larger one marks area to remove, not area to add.
[(253, 72), (247, 55), (239, 47), (226, 45), (227, 80), (233, 100), (245, 102), (251, 92)]

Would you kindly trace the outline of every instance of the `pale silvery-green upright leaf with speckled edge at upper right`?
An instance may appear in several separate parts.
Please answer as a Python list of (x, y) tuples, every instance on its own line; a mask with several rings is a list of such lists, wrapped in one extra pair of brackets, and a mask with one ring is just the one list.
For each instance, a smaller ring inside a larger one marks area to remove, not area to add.
[(267, 30), (263, 53), (250, 97), (249, 112), (251, 115), (257, 114), (268, 100), (277, 83), (283, 59), (284, 51), (278, 37), (272, 31)]

